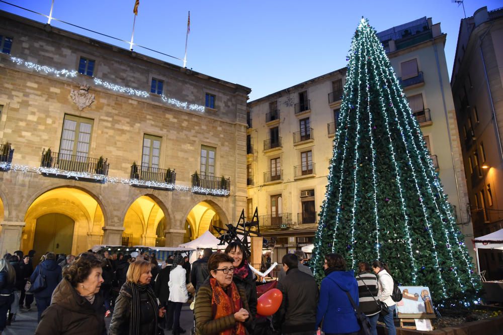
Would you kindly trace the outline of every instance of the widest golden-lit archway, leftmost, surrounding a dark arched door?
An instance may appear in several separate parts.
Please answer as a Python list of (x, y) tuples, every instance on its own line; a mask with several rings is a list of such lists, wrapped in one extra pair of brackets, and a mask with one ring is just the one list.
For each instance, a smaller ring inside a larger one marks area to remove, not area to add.
[[(103, 239), (105, 218), (100, 204), (87, 190), (73, 187), (59, 187), (39, 195), (25, 214), (21, 249), (27, 253), (33, 248), (37, 233), (37, 220), (47, 214), (62, 214), (74, 221), (71, 238), (71, 253), (76, 255), (99, 245)], [(58, 232), (54, 232), (58, 234)], [(47, 237), (47, 239), (53, 238)], [(56, 248), (56, 247), (54, 247)], [(38, 253), (55, 250), (37, 250)]]

